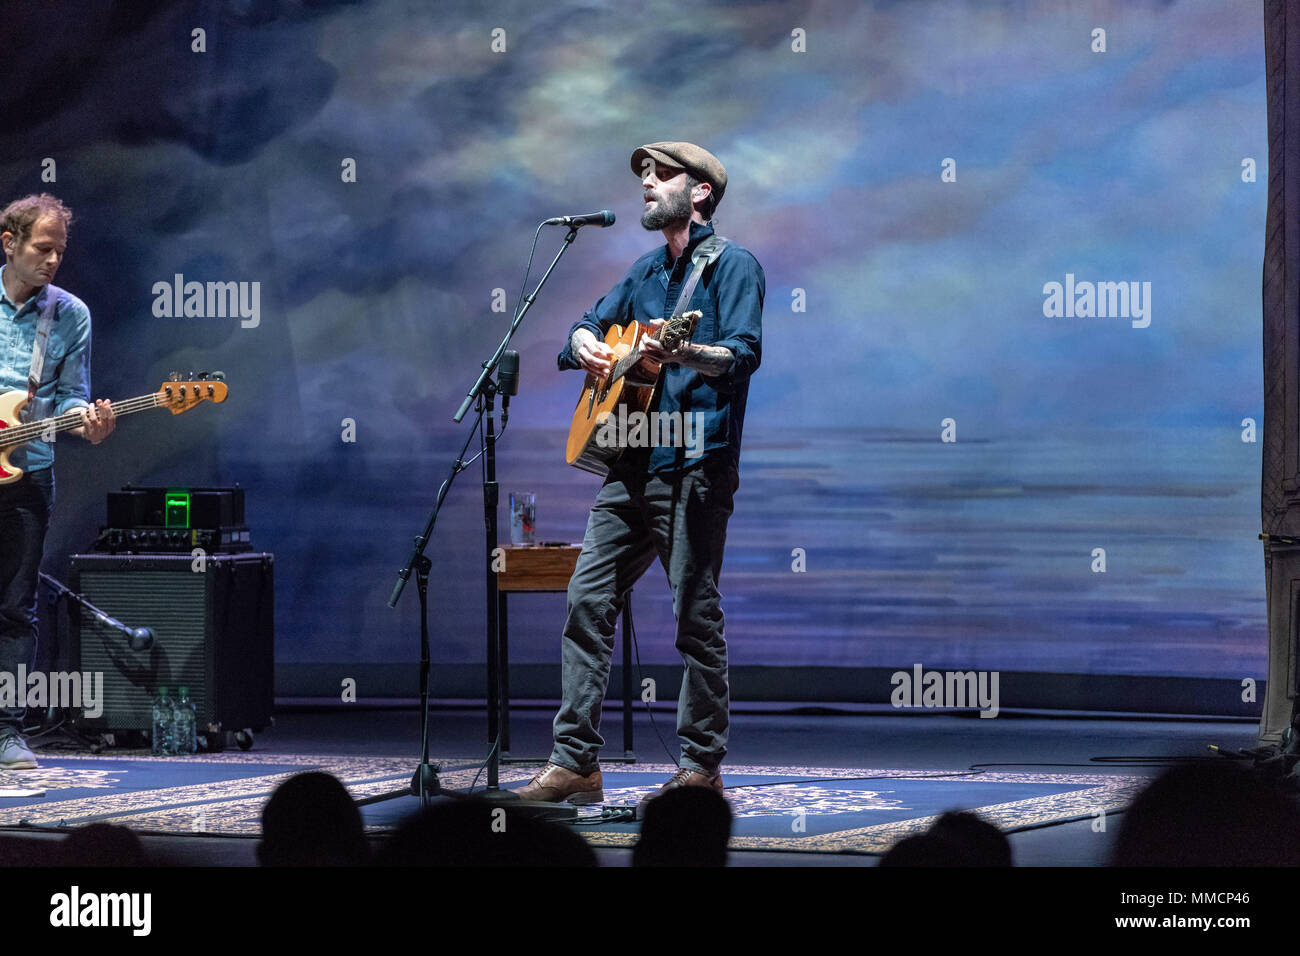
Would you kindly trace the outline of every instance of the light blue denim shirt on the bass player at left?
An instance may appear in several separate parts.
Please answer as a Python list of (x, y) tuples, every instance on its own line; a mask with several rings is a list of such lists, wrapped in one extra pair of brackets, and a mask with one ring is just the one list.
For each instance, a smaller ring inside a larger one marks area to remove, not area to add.
[[(90, 310), (86, 303), (55, 285), (43, 286), (23, 303), (13, 303), (4, 291), (5, 268), (0, 265), (0, 392), (18, 389), (26, 394), (36, 320), (48, 297), (57, 295), (36, 399), (23, 418), (39, 421), (90, 405)], [(40, 471), (55, 463), (55, 447), (48, 441), (30, 441), (10, 453), (9, 460), (23, 471)]]

